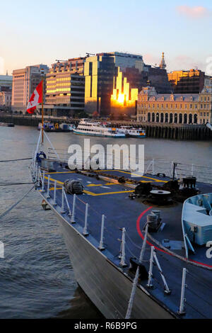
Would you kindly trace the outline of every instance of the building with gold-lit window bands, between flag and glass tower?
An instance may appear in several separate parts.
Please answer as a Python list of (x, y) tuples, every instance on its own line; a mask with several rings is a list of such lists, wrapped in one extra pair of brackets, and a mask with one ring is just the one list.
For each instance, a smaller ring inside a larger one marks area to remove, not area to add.
[(46, 75), (46, 115), (69, 116), (84, 111), (85, 59), (78, 57), (52, 64)]

